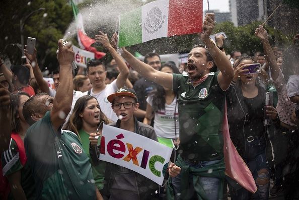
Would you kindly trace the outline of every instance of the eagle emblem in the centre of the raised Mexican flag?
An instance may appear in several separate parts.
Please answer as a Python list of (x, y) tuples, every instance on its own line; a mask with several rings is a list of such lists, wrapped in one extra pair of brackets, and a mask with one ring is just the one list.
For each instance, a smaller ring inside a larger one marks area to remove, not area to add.
[(165, 21), (165, 15), (163, 15), (162, 11), (154, 7), (146, 14), (146, 20), (143, 23), (144, 29), (147, 33), (155, 33), (161, 29), (162, 25)]

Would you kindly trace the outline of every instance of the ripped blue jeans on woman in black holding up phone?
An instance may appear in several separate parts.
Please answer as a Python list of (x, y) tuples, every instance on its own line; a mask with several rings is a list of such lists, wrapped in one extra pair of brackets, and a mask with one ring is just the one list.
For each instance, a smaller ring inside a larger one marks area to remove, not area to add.
[(255, 138), (252, 142), (246, 142), (246, 154), (242, 157), (250, 169), (258, 190), (252, 194), (244, 188), (233, 190), (232, 200), (268, 199), (270, 187), (270, 169), (266, 159), (266, 142)]

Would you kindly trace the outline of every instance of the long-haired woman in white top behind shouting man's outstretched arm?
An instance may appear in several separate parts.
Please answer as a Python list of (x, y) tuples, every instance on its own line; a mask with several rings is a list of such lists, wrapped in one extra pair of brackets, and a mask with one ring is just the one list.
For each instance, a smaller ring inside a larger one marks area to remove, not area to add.
[[(178, 68), (172, 63), (162, 65), (161, 72), (180, 74)], [(173, 139), (174, 144), (179, 144), (179, 113), (177, 94), (160, 85), (146, 99), (146, 114), (143, 123), (152, 124), (158, 137)]]

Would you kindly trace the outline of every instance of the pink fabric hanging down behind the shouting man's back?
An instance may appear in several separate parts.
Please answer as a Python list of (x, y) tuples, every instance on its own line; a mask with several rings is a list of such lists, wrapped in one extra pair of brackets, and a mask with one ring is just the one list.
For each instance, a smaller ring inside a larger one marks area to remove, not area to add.
[(225, 113), (223, 116), (222, 123), (223, 132), (223, 152), (225, 157), (226, 170), (225, 174), (230, 178), (237, 181), (242, 187), (248, 191), (255, 193), (257, 186), (252, 177), (251, 171), (247, 167), (246, 163), (243, 161), (238, 151), (236, 150), (231, 137), (227, 116), (227, 105), (225, 105)]

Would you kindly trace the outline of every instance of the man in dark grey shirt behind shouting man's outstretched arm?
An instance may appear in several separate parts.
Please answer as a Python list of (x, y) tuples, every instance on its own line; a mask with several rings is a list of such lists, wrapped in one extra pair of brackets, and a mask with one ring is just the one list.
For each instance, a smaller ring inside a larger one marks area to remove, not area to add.
[[(150, 65), (155, 70), (160, 70), (161, 68), (161, 58), (158, 53), (148, 53), (144, 57), (144, 63)], [(148, 94), (155, 90), (157, 84), (151, 80), (141, 77), (138, 81), (134, 83), (133, 89), (136, 91), (138, 96), (139, 109), (136, 113), (138, 121), (143, 121), (146, 110), (146, 98)]]

